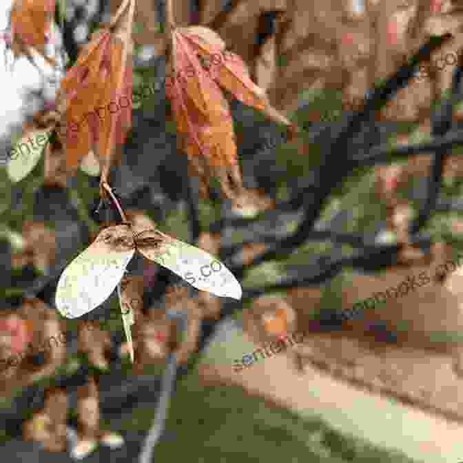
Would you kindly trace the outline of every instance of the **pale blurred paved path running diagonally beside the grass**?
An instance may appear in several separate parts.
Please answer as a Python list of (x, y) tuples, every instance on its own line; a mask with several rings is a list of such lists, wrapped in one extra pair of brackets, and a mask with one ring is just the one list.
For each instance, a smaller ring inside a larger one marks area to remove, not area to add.
[[(463, 459), (461, 424), (358, 389), (310, 364), (306, 366), (305, 375), (299, 375), (287, 362), (285, 354), (235, 373), (231, 368), (233, 358), (255, 349), (249, 338), (238, 347), (239, 343), (232, 338), (239, 340), (241, 336), (246, 338), (238, 330), (229, 331), (227, 338), (214, 342), (201, 366), (206, 380), (240, 384), (250, 393), (263, 395), (300, 415), (320, 415), (343, 433), (386, 449), (400, 450), (418, 461), (444, 463)], [(216, 360), (218, 351), (226, 352), (227, 360), (222, 358), (220, 364), (212, 367), (212, 356)]]

